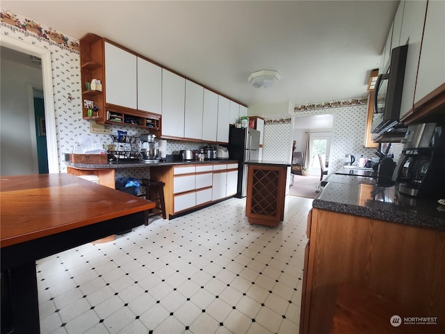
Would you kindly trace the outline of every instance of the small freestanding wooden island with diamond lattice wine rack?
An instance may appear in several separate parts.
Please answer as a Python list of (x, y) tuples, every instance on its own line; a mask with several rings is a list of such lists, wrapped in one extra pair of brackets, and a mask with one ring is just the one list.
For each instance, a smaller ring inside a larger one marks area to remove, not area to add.
[(245, 215), (250, 224), (276, 227), (284, 218), (287, 168), (282, 161), (250, 160)]

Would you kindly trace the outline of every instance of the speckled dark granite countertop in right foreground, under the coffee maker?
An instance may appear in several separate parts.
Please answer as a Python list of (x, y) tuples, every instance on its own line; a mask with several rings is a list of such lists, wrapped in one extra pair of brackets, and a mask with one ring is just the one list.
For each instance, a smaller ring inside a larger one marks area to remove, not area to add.
[(332, 174), (313, 207), (445, 231), (445, 205), (412, 198), (397, 186), (380, 186), (374, 177)]

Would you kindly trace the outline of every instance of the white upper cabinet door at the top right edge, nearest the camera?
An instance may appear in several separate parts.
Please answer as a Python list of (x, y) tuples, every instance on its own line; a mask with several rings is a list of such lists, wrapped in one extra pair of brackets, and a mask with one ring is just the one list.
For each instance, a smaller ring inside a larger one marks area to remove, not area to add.
[(445, 83), (445, 1), (429, 1), (414, 104)]

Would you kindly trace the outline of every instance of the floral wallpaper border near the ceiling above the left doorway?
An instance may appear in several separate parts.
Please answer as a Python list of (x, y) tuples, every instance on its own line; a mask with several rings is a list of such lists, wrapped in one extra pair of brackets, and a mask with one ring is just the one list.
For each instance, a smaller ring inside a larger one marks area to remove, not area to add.
[(2, 9), (0, 12), (1, 25), (8, 26), (10, 29), (24, 31), (25, 34), (37, 35), (39, 40), (47, 40), (60, 47), (66, 47), (71, 51), (80, 52), (79, 40), (70, 38), (63, 33), (52, 29), (51, 27), (42, 26), (40, 23), (13, 13), (11, 10)]

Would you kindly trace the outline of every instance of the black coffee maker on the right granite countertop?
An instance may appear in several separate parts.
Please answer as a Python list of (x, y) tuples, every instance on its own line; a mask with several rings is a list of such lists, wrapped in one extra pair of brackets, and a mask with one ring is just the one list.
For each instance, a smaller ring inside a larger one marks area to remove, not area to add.
[(437, 123), (410, 125), (392, 180), (398, 192), (416, 198), (445, 198), (445, 128)]

